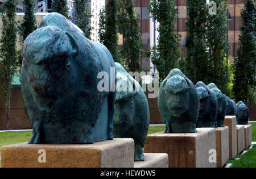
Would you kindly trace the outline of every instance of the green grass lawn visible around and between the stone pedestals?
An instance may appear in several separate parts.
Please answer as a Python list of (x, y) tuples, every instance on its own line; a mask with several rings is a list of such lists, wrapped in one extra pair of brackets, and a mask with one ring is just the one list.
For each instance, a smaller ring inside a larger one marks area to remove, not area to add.
[[(252, 126), (252, 140), (256, 141), (256, 123), (250, 124)], [(148, 128), (148, 134), (161, 131), (164, 131), (164, 126), (150, 126)], [(0, 132), (0, 148), (4, 145), (27, 142), (30, 140), (31, 136), (32, 131)], [(254, 145), (252, 149), (247, 149), (247, 151), (248, 152), (244, 155), (236, 156), (236, 158), (240, 158), (240, 160), (229, 160), (228, 163), (232, 163), (232, 167), (256, 167), (256, 145)]]

